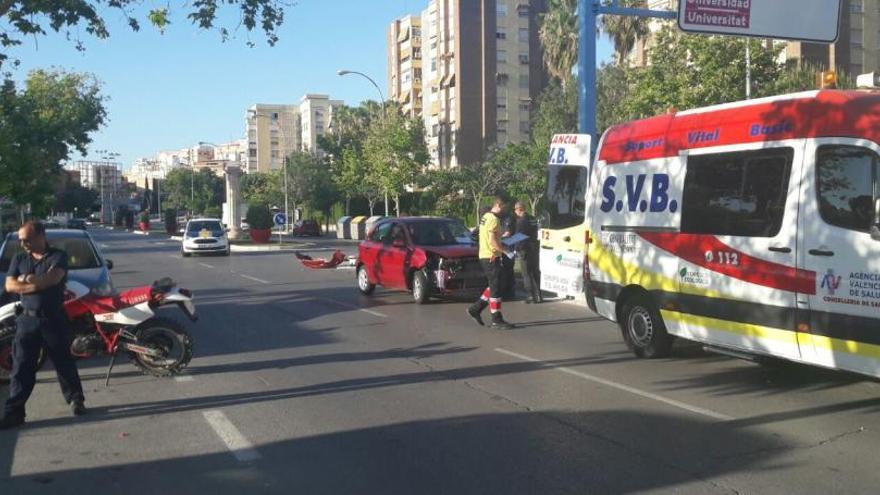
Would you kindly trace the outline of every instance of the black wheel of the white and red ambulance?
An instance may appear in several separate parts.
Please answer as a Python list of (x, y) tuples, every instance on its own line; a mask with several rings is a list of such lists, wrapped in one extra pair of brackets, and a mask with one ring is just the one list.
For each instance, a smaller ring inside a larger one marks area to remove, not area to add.
[(646, 296), (637, 295), (626, 302), (621, 330), (626, 345), (640, 358), (666, 357), (672, 349), (663, 318)]

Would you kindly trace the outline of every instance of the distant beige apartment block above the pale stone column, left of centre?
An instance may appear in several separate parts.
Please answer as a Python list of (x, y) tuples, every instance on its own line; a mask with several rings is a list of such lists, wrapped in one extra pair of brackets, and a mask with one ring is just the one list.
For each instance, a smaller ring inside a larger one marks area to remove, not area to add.
[(299, 105), (252, 105), (245, 117), (246, 172), (282, 168), (284, 157), (302, 149)]

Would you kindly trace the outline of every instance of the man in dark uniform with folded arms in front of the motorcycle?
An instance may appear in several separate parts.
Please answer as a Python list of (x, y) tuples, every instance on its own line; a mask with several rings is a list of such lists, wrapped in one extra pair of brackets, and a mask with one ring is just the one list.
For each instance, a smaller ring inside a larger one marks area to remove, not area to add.
[(28, 222), (18, 230), (23, 252), (17, 254), (6, 274), (6, 290), (21, 296), (21, 314), (16, 320), (12, 346), (12, 374), (5, 415), (0, 429), (24, 423), (25, 403), (34, 390), (37, 359), (45, 345), (55, 364), (64, 399), (74, 415), (86, 408), (76, 370), (70, 355), (70, 329), (64, 313), (64, 284), (67, 280), (67, 253), (46, 242), (46, 227)]

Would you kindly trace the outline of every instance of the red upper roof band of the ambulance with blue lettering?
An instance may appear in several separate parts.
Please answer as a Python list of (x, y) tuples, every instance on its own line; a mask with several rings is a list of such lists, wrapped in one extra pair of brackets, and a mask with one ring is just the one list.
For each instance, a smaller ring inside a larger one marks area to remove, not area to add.
[(808, 91), (635, 120), (608, 130), (599, 160), (640, 161), (695, 148), (816, 137), (880, 143), (880, 92)]

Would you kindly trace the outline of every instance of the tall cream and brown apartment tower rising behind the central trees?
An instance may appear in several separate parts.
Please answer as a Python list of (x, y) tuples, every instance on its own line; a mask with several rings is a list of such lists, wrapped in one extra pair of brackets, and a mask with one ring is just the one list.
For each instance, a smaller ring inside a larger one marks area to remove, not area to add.
[(546, 8), (546, 0), (431, 0), (420, 18), (391, 23), (389, 93), (422, 118), (433, 166), (476, 164), (492, 147), (529, 138), (548, 80), (538, 41)]

